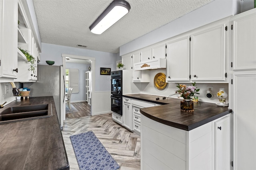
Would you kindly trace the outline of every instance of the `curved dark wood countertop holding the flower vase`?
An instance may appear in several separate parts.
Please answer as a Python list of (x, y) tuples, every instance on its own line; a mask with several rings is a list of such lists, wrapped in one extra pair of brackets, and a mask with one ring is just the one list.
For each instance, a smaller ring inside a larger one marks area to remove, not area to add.
[[(126, 94), (123, 96), (145, 102), (162, 104), (162, 106), (142, 108), (140, 109), (140, 113), (154, 121), (186, 131), (195, 129), (232, 112), (228, 107), (220, 107), (216, 104), (206, 102), (194, 103), (194, 111), (186, 112), (180, 110), (181, 99), (166, 98), (162, 100), (162, 96), (148, 94)], [(156, 100), (158, 97), (160, 100)]]

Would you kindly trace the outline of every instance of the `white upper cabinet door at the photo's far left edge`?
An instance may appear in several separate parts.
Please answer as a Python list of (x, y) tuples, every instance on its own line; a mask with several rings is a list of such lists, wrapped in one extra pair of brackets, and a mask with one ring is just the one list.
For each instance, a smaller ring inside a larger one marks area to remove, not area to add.
[[(0, 1), (0, 81), (17, 78), (18, 2)], [(7, 79), (6, 79), (7, 78)]]

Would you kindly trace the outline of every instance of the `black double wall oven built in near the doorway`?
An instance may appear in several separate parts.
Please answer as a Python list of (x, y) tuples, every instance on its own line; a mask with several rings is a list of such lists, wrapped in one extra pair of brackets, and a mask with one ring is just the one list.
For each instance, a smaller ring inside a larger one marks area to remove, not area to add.
[(122, 70), (111, 72), (111, 111), (122, 116)]

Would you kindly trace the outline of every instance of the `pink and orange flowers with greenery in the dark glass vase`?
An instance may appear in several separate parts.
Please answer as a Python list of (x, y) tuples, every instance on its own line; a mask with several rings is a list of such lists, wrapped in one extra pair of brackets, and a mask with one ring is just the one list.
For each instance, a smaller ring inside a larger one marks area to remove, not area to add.
[[(192, 86), (186, 86), (186, 84), (178, 84), (176, 87), (178, 87), (178, 90), (175, 91), (175, 94), (179, 95), (178, 98), (182, 97), (185, 100), (189, 100), (195, 98), (195, 94), (200, 94), (198, 93), (200, 89), (196, 89), (196, 82), (192, 83)], [(170, 96), (175, 94), (171, 94)]]

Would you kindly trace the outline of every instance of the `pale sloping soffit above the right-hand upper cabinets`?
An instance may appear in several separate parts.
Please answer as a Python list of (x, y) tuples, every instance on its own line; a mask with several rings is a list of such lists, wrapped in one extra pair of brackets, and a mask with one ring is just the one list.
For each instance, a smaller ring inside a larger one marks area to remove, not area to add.
[(120, 55), (136, 51), (202, 25), (237, 14), (240, 0), (214, 0), (120, 47)]

